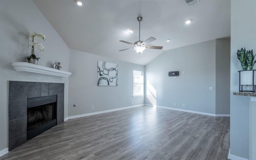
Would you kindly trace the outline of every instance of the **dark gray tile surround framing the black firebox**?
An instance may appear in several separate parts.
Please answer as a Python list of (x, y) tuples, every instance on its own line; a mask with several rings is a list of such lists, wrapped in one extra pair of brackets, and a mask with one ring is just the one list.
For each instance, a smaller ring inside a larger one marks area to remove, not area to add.
[[(32, 82), (30, 82), (32, 84)], [(40, 82), (33, 82), (40, 83)], [(34, 84), (30, 85), (33, 86)], [(57, 124), (64, 122), (64, 84), (57, 83), (41, 83), (40, 84), (40, 96), (50, 96), (57, 95), (58, 104), (57, 104)], [(38, 89), (39, 90), (39, 89)], [(26, 142), (26, 116), (22, 118), (18, 118), (26, 112), (22, 111), (20, 113), (17, 112), (19, 107), (24, 106), (23, 101), (14, 100), (26, 100), (28, 96), (28, 82), (19, 82), (19, 81), (10, 81), (9, 82), (9, 150), (20, 146), (24, 142)], [(31, 96), (31, 91), (30, 91)], [(37, 94), (37, 93), (36, 93)], [(13, 112), (13, 113), (12, 113)], [(17, 119), (14, 119), (17, 118)]]

